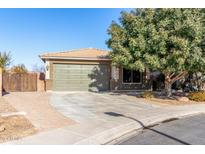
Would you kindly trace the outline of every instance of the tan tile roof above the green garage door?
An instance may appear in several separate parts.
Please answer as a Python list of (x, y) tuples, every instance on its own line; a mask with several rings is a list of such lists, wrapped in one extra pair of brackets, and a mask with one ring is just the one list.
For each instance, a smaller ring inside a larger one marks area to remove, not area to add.
[(109, 51), (101, 50), (96, 48), (85, 48), (85, 49), (76, 49), (64, 52), (55, 52), (55, 53), (46, 53), (40, 55), (41, 59), (72, 59), (72, 58), (81, 58), (81, 59), (109, 59)]

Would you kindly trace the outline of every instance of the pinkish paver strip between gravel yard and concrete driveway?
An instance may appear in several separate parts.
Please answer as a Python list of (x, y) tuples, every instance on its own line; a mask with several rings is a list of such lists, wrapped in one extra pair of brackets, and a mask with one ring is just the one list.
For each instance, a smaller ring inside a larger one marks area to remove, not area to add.
[(51, 94), (44, 92), (14, 92), (3, 97), (16, 110), (26, 112), (26, 118), (39, 132), (53, 130), (75, 122), (66, 118), (49, 104)]

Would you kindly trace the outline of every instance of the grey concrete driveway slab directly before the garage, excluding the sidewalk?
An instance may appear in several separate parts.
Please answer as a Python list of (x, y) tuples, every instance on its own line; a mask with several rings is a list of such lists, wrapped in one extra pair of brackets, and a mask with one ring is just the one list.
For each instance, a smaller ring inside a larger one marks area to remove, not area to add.
[(140, 116), (160, 106), (137, 101), (136, 97), (114, 93), (53, 93), (50, 104), (79, 123), (115, 122), (112, 113)]

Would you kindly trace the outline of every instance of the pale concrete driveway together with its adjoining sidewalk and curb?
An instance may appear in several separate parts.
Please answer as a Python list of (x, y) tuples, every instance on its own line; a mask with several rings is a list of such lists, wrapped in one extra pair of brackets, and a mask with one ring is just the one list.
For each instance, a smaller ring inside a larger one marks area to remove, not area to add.
[(163, 120), (205, 112), (205, 105), (158, 106), (110, 93), (56, 93), (50, 104), (76, 124), (7, 144), (106, 144)]

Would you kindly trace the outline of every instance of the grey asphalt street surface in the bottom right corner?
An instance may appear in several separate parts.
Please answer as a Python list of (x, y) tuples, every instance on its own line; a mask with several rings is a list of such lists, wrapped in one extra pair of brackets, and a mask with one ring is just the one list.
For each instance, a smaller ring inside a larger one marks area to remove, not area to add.
[(205, 115), (195, 115), (155, 127), (126, 139), (121, 145), (204, 145)]

